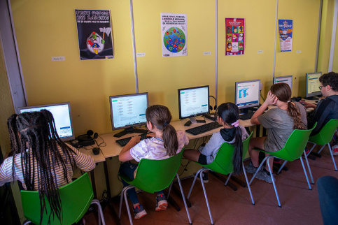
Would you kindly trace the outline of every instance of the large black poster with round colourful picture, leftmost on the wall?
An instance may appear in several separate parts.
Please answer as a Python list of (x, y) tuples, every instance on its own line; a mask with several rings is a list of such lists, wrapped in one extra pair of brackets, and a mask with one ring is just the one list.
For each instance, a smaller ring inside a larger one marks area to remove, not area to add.
[(110, 10), (76, 9), (80, 59), (113, 59)]

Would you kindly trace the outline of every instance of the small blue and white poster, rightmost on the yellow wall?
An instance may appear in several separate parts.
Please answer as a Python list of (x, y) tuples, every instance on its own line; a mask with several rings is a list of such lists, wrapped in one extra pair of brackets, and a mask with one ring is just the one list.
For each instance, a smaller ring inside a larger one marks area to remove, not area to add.
[(293, 20), (278, 20), (281, 52), (293, 50)]

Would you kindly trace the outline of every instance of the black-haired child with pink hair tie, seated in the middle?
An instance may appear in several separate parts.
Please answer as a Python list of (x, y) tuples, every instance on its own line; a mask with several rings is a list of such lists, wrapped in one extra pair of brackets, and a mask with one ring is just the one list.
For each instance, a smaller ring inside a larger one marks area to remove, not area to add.
[[(213, 133), (210, 140), (199, 150), (185, 150), (183, 156), (185, 159), (197, 161), (199, 164), (211, 164), (223, 143), (234, 145), (234, 156), (232, 165), (234, 173), (239, 174), (242, 171), (242, 140), (248, 138), (248, 133), (244, 126), (239, 125), (239, 109), (234, 103), (223, 103), (216, 110), (217, 121), (223, 126), (223, 129)], [(203, 173), (203, 182), (208, 182), (208, 173)]]

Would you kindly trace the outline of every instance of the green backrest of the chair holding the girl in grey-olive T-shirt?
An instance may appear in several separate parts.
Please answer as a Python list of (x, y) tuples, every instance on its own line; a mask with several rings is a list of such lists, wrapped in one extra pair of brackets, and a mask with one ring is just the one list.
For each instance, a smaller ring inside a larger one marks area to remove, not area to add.
[(311, 131), (316, 127), (317, 123), (314, 124), (314, 127), (309, 130), (293, 130), (290, 137), (286, 141), (284, 147), (278, 152), (269, 152), (275, 157), (285, 159), (287, 161), (293, 161), (302, 157), (302, 154), (307, 146), (309, 136)]

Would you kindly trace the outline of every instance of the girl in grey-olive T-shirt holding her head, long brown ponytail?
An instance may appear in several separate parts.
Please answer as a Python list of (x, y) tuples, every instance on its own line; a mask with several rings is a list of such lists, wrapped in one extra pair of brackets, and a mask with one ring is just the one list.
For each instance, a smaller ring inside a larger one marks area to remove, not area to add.
[[(267, 136), (251, 138), (249, 154), (251, 163), (246, 166), (246, 172), (255, 173), (259, 166), (259, 148), (265, 152), (277, 152), (286, 144), (286, 140), (294, 129), (307, 129), (307, 111), (300, 103), (291, 100), (291, 89), (286, 83), (276, 83), (270, 87), (267, 99), (251, 117), (252, 124), (261, 124), (267, 129)], [(276, 105), (264, 113), (268, 106)], [(264, 113), (264, 114), (263, 114)], [(269, 154), (266, 154), (269, 155)], [(267, 161), (272, 168), (273, 158)], [(272, 183), (268, 166), (260, 170), (256, 178)]]

